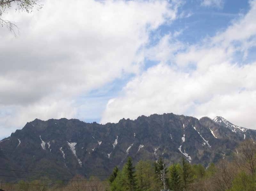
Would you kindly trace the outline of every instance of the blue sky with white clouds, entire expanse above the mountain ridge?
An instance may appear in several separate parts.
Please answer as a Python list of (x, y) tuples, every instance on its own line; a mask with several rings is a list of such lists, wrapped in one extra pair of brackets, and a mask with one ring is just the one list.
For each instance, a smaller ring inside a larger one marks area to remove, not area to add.
[(0, 28), (0, 138), (174, 113), (256, 129), (256, 0), (42, 0)]

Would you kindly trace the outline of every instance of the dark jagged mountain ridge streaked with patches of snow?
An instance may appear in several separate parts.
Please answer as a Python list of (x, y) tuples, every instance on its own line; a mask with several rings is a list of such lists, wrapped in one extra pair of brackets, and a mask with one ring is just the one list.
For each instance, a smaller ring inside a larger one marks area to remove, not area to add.
[(174, 114), (105, 125), (77, 119), (36, 119), (0, 142), (0, 168), (106, 175), (114, 166), (122, 166), (127, 156), (134, 162), (162, 157), (169, 164), (183, 156), (207, 166), (230, 156), (244, 139), (256, 140), (255, 130), (232, 125), (220, 117), (198, 120)]

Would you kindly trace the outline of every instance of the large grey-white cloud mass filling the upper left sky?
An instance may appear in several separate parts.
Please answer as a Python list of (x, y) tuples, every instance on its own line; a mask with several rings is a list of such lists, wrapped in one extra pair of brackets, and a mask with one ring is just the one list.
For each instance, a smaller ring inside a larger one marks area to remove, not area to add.
[(152, 31), (176, 19), (179, 6), (161, 0), (43, 4), (38, 12), (5, 15), (20, 28), (17, 38), (0, 34), (0, 111), (9, 110), (0, 125), (6, 129), (35, 118), (75, 117), (70, 100), (138, 73), (139, 50)]

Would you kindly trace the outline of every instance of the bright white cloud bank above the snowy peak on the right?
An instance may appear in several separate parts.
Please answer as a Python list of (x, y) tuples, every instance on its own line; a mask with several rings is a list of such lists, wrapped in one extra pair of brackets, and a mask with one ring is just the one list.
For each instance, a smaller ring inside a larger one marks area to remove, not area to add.
[(173, 112), (195, 117), (222, 115), (256, 129), (256, 63), (236, 58), (236, 53), (245, 54), (255, 45), (255, 8), (253, 1), (248, 14), (197, 44), (170, 40), (171, 35), (162, 38), (147, 54), (160, 64), (127, 83), (122, 94), (107, 105), (102, 123)]

